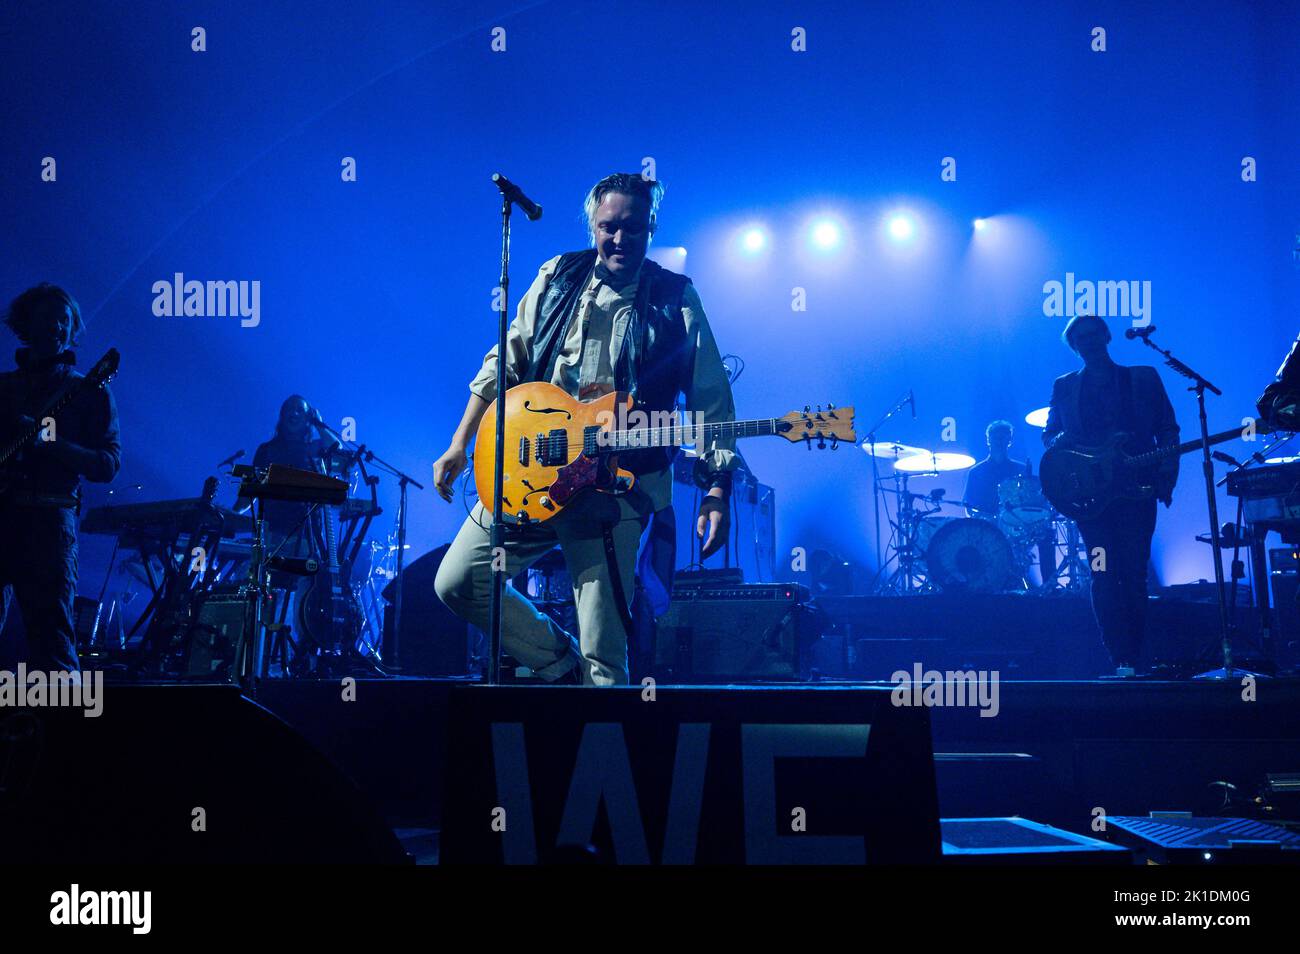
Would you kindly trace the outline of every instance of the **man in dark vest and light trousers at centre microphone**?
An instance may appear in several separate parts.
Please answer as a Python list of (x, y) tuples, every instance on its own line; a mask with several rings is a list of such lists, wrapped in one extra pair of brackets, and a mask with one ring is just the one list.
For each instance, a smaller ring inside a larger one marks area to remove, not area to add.
[[(584, 205), (594, 248), (545, 263), (519, 304), (507, 337), (507, 381), (546, 381), (580, 400), (630, 393), (647, 411), (671, 411), (679, 393), (706, 422), (734, 420), (731, 385), (690, 279), (646, 259), (663, 186), (616, 173), (590, 190)], [(497, 348), (469, 385), (469, 402), (451, 446), (434, 463), (443, 499), (467, 467), (467, 448), (497, 396)], [(702, 558), (727, 541), (733, 446), (697, 448), (705, 487), (696, 533)], [(577, 600), (578, 642), (514, 589), (502, 608), (502, 645), (542, 680), (585, 685), (628, 682), (629, 606), (641, 533), (654, 513), (653, 541), (672, 541), (671, 454), (620, 456), (638, 474), (632, 493), (588, 493), (545, 525), (506, 538), (506, 569), (523, 572), (556, 542)], [(489, 504), (488, 507), (484, 503)], [(480, 502), (438, 569), (438, 597), (481, 629), (491, 594), (491, 502)], [(656, 563), (654, 558), (650, 563)], [(672, 560), (668, 560), (672, 565)]]

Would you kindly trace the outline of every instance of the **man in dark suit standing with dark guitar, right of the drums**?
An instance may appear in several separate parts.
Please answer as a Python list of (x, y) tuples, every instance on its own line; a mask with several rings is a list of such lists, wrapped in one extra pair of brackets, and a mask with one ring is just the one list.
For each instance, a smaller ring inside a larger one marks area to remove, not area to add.
[[(1178, 421), (1160, 374), (1154, 368), (1126, 368), (1110, 360), (1110, 329), (1102, 318), (1079, 315), (1061, 337), (1083, 360), (1083, 368), (1053, 383), (1044, 443), (1063, 435), (1076, 445), (1098, 446), (1121, 432), (1128, 435), (1123, 445), (1127, 454), (1178, 443)], [(1119, 499), (1098, 516), (1079, 521), (1089, 561), (1105, 558), (1105, 569), (1092, 573), (1092, 610), (1115, 676), (1132, 676), (1139, 664), (1156, 499), (1170, 506), (1176, 481), (1174, 456), (1153, 476), (1154, 498)]]

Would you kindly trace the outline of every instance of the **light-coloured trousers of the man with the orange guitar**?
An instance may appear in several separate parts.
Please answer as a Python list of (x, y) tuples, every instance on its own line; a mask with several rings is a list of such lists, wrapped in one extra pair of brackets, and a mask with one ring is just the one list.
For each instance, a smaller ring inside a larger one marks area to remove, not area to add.
[[(543, 524), (507, 530), (507, 577), (528, 569), (559, 543), (573, 581), (578, 636), (575, 639), (526, 597), (507, 586), (502, 602), (502, 649), (546, 681), (559, 678), (576, 665), (584, 685), (627, 685), (628, 634), (615, 603), (603, 526), (614, 526), (623, 594), (630, 600), (637, 547), (649, 509), (644, 494), (611, 496), (588, 491)], [(488, 629), (491, 608), (490, 526), (491, 513), (476, 503), (451, 542), (434, 582), (438, 598), (482, 630)]]

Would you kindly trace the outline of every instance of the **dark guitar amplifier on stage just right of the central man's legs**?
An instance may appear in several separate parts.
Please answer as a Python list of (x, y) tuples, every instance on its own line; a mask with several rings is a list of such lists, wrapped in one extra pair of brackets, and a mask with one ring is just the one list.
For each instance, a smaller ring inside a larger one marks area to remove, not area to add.
[(673, 587), (655, 626), (662, 682), (794, 682), (820, 632), (797, 584)]

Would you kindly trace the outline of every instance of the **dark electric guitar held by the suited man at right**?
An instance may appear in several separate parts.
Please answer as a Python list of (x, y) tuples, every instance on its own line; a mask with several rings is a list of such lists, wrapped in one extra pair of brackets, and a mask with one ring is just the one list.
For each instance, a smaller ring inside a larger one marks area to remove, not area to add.
[[(1270, 430), (1264, 421), (1254, 425), (1256, 433)], [(1244, 428), (1232, 428), (1210, 434), (1210, 445), (1240, 439), (1244, 433)], [(1096, 517), (1115, 500), (1157, 496), (1161, 487), (1156, 471), (1160, 465), (1201, 447), (1200, 439), (1196, 439), (1144, 454), (1126, 454), (1123, 443), (1127, 437), (1115, 434), (1100, 447), (1083, 447), (1058, 438), (1039, 463), (1043, 495), (1071, 520)]]

